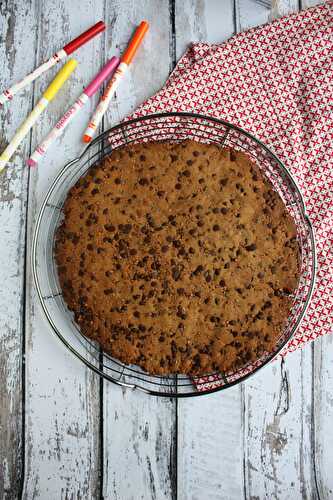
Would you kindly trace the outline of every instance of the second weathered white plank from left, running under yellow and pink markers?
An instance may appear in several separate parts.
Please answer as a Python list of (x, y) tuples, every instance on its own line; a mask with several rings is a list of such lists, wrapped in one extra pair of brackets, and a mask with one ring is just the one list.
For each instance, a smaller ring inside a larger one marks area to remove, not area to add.
[[(46, 59), (65, 41), (103, 19), (103, 2), (40, 3), (38, 61)], [(100, 68), (103, 37), (75, 53), (79, 66), (51, 103), (33, 131), (36, 145), (83, 85)], [(59, 68), (35, 85), (41, 92)], [(31, 171), (28, 249), (38, 207), (60, 168), (82, 150), (80, 138), (88, 110), (49, 151), (38, 169)], [(99, 496), (99, 378), (78, 361), (52, 333), (38, 304), (27, 269), (26, 349), (26, 483), (24, 498), (97, 498)]]

